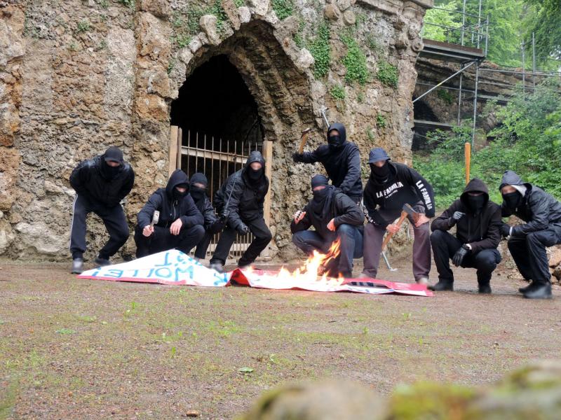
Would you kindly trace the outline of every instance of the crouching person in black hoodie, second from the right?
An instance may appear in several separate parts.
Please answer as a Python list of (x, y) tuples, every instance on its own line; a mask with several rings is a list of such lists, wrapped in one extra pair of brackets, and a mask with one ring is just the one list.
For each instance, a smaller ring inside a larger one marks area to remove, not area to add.
[[(456, 237), (448, 230), (456, 226)], [(450, 258), (456, 267), (477, 269), (479, 293), (491, 293), (491, 276), (501, 262), (496, 250), (501, 241), (501, 207), (489, 200), (489, 190), (483, 181), (469, 181), (459, 200), (431, 225), (434, 262), (438, 283), (431, 290), (454, 290), (454, 274)]]

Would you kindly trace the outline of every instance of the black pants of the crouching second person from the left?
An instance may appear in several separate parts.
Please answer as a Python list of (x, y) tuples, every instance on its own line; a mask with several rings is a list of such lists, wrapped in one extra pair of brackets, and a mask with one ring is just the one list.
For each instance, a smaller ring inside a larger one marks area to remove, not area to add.
[(172, 235), (170, 228), (154, 226), (154, 233), (149, 237), (142, 235), (140, 226), (135, 228), (136, 258), (142, 258), (153, 253), (168, 251), (177, 248), (184, 253), (189, 253), (205, 235), (202, 225), (194, 225), (191, 228), (182, 228), (179, 235)]

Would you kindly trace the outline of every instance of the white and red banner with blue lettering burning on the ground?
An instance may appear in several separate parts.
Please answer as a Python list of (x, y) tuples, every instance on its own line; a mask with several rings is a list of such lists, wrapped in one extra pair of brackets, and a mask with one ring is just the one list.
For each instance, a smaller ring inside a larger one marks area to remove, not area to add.
[(290, 272), (282, 268), (278, 272), (252, 269), (236, 269), (231, 273), (218, 273), (204, 267), (189, 255), (172, 249), (138, 260), (90, 269), (79, 274), (79, 279), (110, 281), (135, 281), (141, 283), (177, 284), (183, 286), (223, 287), (240, 284), (255, 288), (277, 290), (311, 290), (316, 292), (354, 292), (369, 294), (403, 293), (432, 296), (426, 286), (417, 283), (394, 283), (377, 279), (344, 279), (318, 273), (325, 269), (338, 254), (334, 243), (327, 254), (314, 253), (302, 267)]

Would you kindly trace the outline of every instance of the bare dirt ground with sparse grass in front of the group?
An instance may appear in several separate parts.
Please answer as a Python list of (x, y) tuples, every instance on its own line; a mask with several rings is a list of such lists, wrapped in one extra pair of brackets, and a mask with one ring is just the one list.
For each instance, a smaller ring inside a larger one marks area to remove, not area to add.
[[(411, 281), (410, 260), (393, 258)], [(475, 271), (435, 297), (203, 289), (75, 279), (0, 261), (0, 419), (230, 419), (285, 381), (342, 376), (388, 393), (403, 381), (485, 384), (558, 358), (561, 290)], [(433, 270), (435, 276), (435, 270)], [(250, 367), (253, 372), (239, 370)]]

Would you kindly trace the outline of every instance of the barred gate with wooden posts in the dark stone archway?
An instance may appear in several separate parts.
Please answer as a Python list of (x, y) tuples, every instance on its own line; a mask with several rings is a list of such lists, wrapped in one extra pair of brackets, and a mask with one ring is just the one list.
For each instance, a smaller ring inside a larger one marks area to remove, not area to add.
[[(258, 129), (259, 127), (257, 127)], [(271, 141), (261, 140), (256, 130), (250, 133), (243, 141), (222, 139), (208, 134), (191, 130), (182, 130), (181, 127), (171, 126), (170, 132), (170, 174), (175, 169), (183, 169), (189, 178), (196, 172), (202, 172), (208, 179), (208, 194), (210, 201), (214, 200), (215, 192), (222, 186), (228, 176), (234, 174), (245, 165), (251, 151), (259, 151), (263, 154), (267, 165), (265, 174), (271, 179)], [(264, 217), (267, 225), (271, 216), (271, 189), (265, 197)], [(208, 246), (206, 257), (209, 258), (214, 252), (219, 239), (219, 234), (212, 237)], [(239, 258), (248, 248), (253, 239), (251, 233), (247, 235), (236, 235), (236, 242), (230, 249), (229, 258)], [(266, 248), (262, 256), (268, 255)]]

